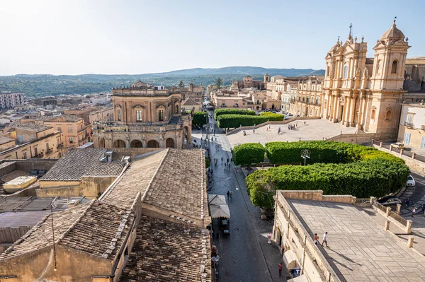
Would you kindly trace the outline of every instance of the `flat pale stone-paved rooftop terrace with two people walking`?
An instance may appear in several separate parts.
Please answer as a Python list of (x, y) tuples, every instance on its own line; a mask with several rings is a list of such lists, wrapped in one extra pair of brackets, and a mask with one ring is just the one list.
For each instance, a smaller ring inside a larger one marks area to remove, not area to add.
[(327, 201), (287, 199), (341, 281), (425, 281), (425, 257), (407, 248), (370, 217), (368, 208)]

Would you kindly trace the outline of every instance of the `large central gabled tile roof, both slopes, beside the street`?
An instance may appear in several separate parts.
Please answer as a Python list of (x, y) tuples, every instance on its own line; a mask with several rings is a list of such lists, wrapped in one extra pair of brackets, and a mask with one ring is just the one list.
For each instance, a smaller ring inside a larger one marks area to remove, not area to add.
[(208, 216), (204, 162), (203, 150), (168, 148), (149, 153), (132, 162), (100, 199), (130, 208), (140, 193), (144, 204), (166, 216), (203, 221)]

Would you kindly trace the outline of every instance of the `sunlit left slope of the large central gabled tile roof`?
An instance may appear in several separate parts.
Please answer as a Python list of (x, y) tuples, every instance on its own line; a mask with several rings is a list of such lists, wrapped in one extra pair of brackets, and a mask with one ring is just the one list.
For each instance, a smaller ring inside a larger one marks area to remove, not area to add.
[(139, 192), (145, 194), (165, 155), (166, 150), (157, 151), (153, 155), (132, 162), (120, 180), (102, 196), (101, 201), (129, 209)]

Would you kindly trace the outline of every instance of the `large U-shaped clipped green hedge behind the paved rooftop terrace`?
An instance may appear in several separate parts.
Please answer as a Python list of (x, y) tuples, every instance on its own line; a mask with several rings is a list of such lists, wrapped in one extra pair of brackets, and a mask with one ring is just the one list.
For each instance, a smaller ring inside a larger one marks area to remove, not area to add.
[(300, 163), (300, 151), (306, 148), (311, 152), (312, 165), (280, 165), (246, 177), (252, 204), (273, 208), (276, 189), (320, 189), (324, 194), (380, 197), (397, 192), (410, 173), (402, 159), (351, 143), (272, 142), (266, 143), (266, 154), (273, 163)]

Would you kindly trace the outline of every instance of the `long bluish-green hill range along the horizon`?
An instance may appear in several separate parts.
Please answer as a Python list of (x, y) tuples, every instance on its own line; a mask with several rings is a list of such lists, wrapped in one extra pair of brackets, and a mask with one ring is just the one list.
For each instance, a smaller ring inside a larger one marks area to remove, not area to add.
[(202, 83), (214, 84), (217, 76), (225, 85), (250, 75), (263, 80), (263, 75), (276, 76), (323, 76), (324, 70), (314, 69), (266, 69), (259, 66), (227, 66), (220, 69), (182, 69), (158, 74), (80, 74), (77, 76), (53, 76), (51, 74), (17, 74), (0, 76), (0, 90), (25, 93), (27, 96), (40, 97), (61, 94), (89, 94), (111, 90), (113, 87), (128, 86), (142, 80), (154, 85), (176, 86), (180, 81), (186, 85)]

